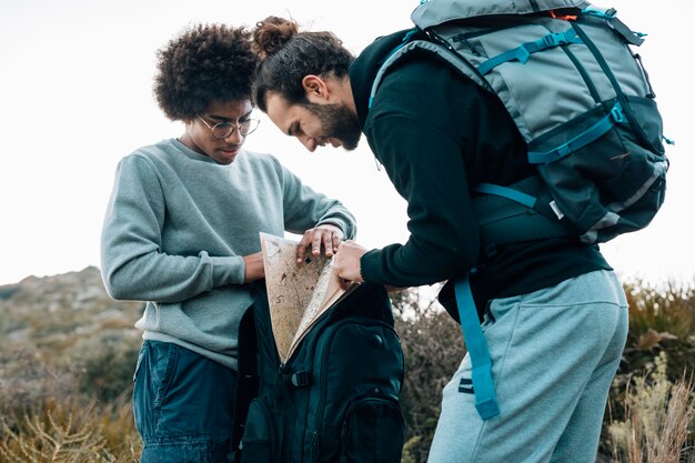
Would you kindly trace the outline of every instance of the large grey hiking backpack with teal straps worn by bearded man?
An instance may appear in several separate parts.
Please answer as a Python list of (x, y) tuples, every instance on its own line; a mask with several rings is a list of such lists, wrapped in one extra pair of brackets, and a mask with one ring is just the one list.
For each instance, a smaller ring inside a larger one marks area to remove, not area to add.
[[(472, 187), (484, 252), (567, 235), (601, 243), (652, 221), (668, 170), (662, 118), (632, 50), (643, 37), (615, 10), (582, 0), (424, 0), (411, 18), (415, 28), (380, 68), (370, 107), (394, 63), (429, 53), (500, 98), (537, 167), (513, 185)], [(475, 406), (487, 420), (504, 404), (469, 278), (454, 283)]]

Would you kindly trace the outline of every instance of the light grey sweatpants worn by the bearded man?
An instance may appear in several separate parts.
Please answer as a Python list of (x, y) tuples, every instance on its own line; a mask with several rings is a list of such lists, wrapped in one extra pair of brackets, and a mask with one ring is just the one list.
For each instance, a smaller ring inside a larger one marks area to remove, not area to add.
[(444, 387), (429, 463), (594, 463), (627, 338), (627, 301), (596, 271), (492, 301), (483, 331), (500, 415), (474, 406), (471, 360)]

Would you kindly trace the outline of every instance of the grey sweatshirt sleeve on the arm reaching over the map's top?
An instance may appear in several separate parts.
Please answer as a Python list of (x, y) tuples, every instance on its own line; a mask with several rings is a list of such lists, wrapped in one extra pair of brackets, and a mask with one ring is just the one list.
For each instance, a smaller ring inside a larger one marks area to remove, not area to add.
[(343, 231), (344, 239), (356, 236), (353, 214), (340, 201), (315, 192), (278, 162), (283, 184), (285, 230), (302, 234), (316, 225), (331, 223)]

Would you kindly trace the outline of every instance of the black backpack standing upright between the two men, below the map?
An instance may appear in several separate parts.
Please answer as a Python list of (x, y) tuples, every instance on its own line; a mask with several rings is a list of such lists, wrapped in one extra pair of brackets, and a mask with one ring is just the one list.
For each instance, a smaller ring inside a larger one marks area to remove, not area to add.
[(285, 364), (261, 290), (240, 325), (231, 460), (399, 463), (403, 351), (381, 285), (329, 309)]

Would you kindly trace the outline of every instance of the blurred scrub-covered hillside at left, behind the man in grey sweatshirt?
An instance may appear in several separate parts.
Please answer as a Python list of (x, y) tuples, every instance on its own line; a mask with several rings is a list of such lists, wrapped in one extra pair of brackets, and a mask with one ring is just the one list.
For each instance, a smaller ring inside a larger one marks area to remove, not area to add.
[(75, 392), (113, 399), (134, 369), (142, 309), (113, 301), (94, 266), (0, 286), (0, 401), (31, 406)]

